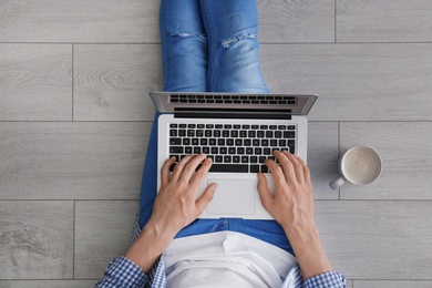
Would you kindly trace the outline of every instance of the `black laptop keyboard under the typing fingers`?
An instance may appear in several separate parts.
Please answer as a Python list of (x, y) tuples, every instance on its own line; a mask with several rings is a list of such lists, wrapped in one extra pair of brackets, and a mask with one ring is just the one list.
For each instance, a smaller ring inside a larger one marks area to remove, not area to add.
[[(272, 152), (295, 153), (296, 125), (169, 124), (169, 156), (204, 153), (213, 160), (209, 172), (268, 173), (264, 162)], [(173, 165), (171, 171), (174, 169)]]

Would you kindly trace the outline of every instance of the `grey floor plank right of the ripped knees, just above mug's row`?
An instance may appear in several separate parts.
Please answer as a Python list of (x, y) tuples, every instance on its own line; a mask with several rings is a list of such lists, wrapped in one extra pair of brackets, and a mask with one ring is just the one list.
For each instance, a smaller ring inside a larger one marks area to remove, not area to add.
[(263, 45), (272, 92), (318, 94), (313, 121), (431, 121), (432, 44)]

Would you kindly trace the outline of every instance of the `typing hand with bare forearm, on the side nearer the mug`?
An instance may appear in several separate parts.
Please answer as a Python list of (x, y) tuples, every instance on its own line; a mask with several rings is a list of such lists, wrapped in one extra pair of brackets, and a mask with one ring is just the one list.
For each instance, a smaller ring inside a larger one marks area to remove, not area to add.
[(258, 174), (258, 191), (263, 206), (282, 226), (296, 254), (305, 279), (331, 271), (315, 224), (315, 204), (309, 168), (288, 152), (275, 152), (275, 161), (266, 161), (275, 183), (271, 193), (266, 176)]

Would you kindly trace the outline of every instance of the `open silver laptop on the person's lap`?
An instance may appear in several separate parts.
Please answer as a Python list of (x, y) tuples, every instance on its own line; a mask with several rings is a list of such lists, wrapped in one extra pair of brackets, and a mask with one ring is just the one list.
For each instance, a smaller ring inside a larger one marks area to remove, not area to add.
[(244, 93), (150, 93), (157, 111), (157, 191), (161, 168), (175, 156), (205, 153), (213, 165), (198, 197), (217, 183), (213, 200), (199, 218), (272, 219), (263, 207), (257, 172), (274, 188), (264, 165), (275, 150), (307, 160), (309, 113), (317, 95)]

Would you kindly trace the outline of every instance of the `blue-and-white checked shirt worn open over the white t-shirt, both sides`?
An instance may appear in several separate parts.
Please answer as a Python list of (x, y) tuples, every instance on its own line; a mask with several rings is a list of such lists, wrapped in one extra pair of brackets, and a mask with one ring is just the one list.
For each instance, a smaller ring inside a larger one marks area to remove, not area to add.
[[(137, 220), (134, 224), (134, 235), (132, 241), (138, 237), (141, 229)], [(117, 257), (111, 261), (105, 269), (105, 277), (95, 287), (166, 287), (164, 256), (153, 265), (148, 274), (125, 257)], [(300, 267), (294, 267), (285, 281), (282, 288), (312, 288), (312, 287), (346, 287), (346, 278), (337, 271), (329, 271), (307, 280), (302, 280)]]

